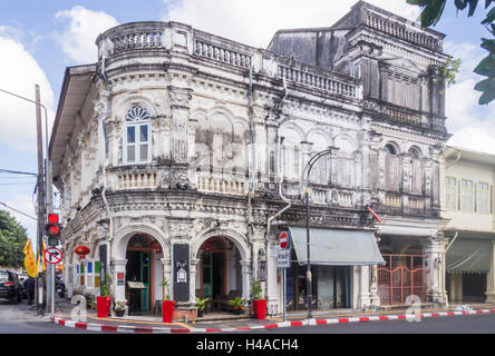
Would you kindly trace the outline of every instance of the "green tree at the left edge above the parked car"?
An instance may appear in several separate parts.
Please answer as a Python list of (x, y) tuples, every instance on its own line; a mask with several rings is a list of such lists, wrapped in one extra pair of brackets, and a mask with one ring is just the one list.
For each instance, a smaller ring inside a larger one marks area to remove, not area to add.
[(0, 266), (23, 266), (26, 229), (8, 212), (0, 210)]

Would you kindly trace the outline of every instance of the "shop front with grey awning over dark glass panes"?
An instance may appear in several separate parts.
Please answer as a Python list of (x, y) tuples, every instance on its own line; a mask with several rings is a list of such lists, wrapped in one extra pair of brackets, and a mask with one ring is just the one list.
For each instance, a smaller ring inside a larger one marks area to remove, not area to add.
[[(287, 270), (287, 308), (304, 310), (307, 298), (307, 229), (290, 227), (292, 264)], [(352, 308), (355, 266), (384, 264), (373, 233), (312, 228), (310, 230), (312, 308)]]

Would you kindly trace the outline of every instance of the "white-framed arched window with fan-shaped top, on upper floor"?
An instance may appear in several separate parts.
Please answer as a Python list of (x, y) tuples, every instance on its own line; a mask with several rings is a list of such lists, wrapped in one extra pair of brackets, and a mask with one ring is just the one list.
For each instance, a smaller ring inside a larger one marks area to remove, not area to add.
[(151, 119), (142, 106), (132, 107), (125, 118), (124, 162), (145, 164), (151, 160)]

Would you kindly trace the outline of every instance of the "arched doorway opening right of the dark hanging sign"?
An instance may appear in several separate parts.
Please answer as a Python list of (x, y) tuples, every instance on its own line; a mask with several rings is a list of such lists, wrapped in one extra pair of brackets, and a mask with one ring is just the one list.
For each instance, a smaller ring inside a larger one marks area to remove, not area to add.
[(241, 256), (235, 245), (225, 237), (211, 237), (197, 253), (196, 295), (225, 299), (242, 294)]

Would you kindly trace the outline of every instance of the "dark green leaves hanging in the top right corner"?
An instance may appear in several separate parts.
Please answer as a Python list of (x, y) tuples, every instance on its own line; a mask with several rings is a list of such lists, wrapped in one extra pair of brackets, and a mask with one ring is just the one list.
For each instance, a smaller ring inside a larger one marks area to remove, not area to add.
[[(410, 4), (416, 4), (423, 8), (420, 14), (420, 21), (423, 27), (436, 26), (444, 13), (444, 8), (447, 0), (407, 0)], [(477, 7), (479, 0), (454, 0), (454, 4), (458, 11), (467, 9), (467, 16), (472, 17)], [(495, 38), (495, 7), (493, 4), (495, 0), (485, 0), (484, 7), (486, 17), (482, 21), (482, 26), (485, 26), (489, 33)], [(488, 10), (489, 8), (489, 10)], [(478, 100), (479, 105), (487, 105), (495, 99), (495, 40), (482, 38), (481, 47), (488, 52), (488, 55), (478, 63), (474, 69), (474, 72), (487, 77), (475, 86), (475, 90), (481, 91), (482, 96)]]

